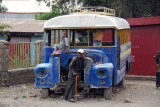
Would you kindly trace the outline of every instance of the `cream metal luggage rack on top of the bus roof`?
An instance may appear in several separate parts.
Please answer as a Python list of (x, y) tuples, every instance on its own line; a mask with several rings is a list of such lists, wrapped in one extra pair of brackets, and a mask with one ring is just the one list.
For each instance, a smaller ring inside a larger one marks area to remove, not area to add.
[(106, 16), (115, 16), (115, 10), (106, 7), (79, 7), (77, 9), (70, 8), (70, 14), (100, 14)]

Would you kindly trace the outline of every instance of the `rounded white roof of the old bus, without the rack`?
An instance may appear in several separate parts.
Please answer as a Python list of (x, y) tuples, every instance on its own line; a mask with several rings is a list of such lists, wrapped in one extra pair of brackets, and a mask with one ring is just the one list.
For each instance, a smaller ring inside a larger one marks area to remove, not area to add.
[(116, 28), (129, 29), (125, 19), (97, 14), (63, 15), (48, 20), (44, 29)]

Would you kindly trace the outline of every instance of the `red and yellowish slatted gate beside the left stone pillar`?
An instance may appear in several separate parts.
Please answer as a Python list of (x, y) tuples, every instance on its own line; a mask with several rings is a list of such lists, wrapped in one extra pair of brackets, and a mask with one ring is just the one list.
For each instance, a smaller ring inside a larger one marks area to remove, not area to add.
[(11, 43), (8, 57), (9, 69), (28, 67), (30, 64), (30, 43)]

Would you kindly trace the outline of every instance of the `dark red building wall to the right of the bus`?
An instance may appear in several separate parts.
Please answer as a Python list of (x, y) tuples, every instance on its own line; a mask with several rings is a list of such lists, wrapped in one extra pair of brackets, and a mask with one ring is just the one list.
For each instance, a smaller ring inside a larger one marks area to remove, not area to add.
[(130, 24), (132, 68), (129, 75), (155, 76), (153, 56), (160, 51), (160, 17), (126, 19)]

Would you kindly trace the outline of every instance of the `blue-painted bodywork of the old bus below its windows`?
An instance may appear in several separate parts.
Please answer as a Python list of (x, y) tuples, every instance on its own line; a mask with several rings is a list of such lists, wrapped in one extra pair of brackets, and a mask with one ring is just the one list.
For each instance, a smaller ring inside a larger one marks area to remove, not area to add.
[[(123, 48), (123, 47), (122, 47)], [(62, 69), (61, 72), (68, 73), (66, 69), (68, 69), (68, 62), (71, 60), (72, 57), (77, 56), (78, 48), (74, 47), (70, 49), (70, 52), (65, 54), (62, 53), (61, 55), (56, 55), (52, 58), (51, 53), (53, 52), (52, 47), (45, 47), (44, 48), (44, 64), (37, 65), (35, 68), (35, 73), (38, 74), (40, 69), (45, 69), (47, 71), (47, 75), (43, 78), (40, 78), (36, 75), (36, 87), (43, 88), (54, 87), (54, 84), (60, 83), (60, 68)], [(131, 45), (126, 45), (125, 49), (121, 49), (121, 68), (117, 70), (117, 47), (82, 47), (87, 52), (87, 55), (95, 57), (95, 60), (98, 62), (100, 58), (104, 58), (103, 62), (101, 63), (93, 63), (91, 59), (90, 68), (87, 68), (88, 71), (85, 74), (85, 81), (84, 83), (90, 84), (91, 88), (98, 88), (98, 87), (111, 87), (112, 86), (112, 77), (114, 75), (114, 84), (117, 85), (125, 76), (126, 70), (126, 61), (131, 61)], [(97, 54), (101, 54), (101, 57), (96, 57)], [(86, 55), (86, 56), (87, 56)], [(89, 57), (88, 57), (89, 58)], [(60, 60), (60, 61), (58, 61)], [(89, 60), (89, 59), (88, 59)], [(61, 67), (60, 67), (61, 66)], [(108, 70), (108, 68), (110, 70)], [(106, 76), (100, 77), (98, 76), (97, 71), (99, 69), (106, 70)], [(41, 81), (44, 81), (41, 82)], [(101, 81), (101, 82), (100, 82)], [(104, 83), (102, 81), (105, 81)]]

